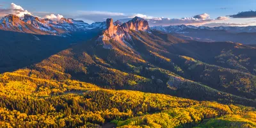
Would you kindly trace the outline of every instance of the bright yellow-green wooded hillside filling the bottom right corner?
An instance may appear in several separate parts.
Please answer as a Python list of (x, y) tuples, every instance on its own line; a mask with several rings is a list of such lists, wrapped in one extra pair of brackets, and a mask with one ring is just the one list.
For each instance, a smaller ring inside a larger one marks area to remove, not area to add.
[(256, 127), (255, 114), (250, 108), (202, 103), (189, 108), (173, 108), (138, 116), (116, 124), (118, 127)]

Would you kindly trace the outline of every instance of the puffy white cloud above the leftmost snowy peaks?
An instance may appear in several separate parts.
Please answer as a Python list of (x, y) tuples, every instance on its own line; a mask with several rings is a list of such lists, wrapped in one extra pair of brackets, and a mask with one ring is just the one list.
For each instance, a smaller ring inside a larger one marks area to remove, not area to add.
[(24, 17), (24, 14), (32, 15), (31, 12), (28, 12), (28, 10), (24, 10), (22, 6), (14, 3), (10, 5), (10, 8), (0, 8), (0, 17), (4, 17), (8, 14), (17, 15), (18, 17)]

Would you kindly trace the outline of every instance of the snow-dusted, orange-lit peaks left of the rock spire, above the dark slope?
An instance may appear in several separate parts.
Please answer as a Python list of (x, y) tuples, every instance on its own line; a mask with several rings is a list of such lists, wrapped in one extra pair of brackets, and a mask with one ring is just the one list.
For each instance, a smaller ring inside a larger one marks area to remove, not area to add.
[(38, 19), (32, 15), (25, 14), (24, 19), (16, 15), (6, 15), (0, 20), (0, 29), (4, 31), (16, 31), (39, 35), (61, 35), (67, 36), (72, 32), (89, 31), (93, 29), (104, 29), (106, 23), (94, 22), (87, 24), (82, 20), (61, 18), (60, 20)]

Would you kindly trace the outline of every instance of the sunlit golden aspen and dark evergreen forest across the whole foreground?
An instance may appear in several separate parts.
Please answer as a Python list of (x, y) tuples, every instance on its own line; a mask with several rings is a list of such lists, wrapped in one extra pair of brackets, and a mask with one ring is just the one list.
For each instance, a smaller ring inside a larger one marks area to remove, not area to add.
[[(199, 125), (207, 118), (228, 122), (227, 116), (236, 116), (234, 122), (243, 120), (241, 125), (255, 126), (253, 108), (157, 93), (106, 90), (74, 80), (29, 77), (26, 72), (28, 69), (1, 76), (1, 127), (101, 127), (108, 122), (122, 127), (186, 127)], [(246, 119), (248, 115), (250, 119)]]

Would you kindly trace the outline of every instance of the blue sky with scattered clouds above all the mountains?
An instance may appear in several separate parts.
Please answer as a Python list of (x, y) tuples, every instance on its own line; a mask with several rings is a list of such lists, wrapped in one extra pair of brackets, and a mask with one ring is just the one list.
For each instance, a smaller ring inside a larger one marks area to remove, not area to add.
[(256, 26), (255, 0), (0, 0), (0, 17), (10, 13), (89, 24), (139, 16), (150, 26)]

